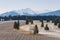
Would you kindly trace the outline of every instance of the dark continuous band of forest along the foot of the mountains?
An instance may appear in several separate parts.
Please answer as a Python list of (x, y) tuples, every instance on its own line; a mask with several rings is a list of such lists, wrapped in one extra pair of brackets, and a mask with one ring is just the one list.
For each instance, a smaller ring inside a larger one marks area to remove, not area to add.
[(26, 20), (26, 17), (29, 17), (29, 18), (32, 18), (33, 20), (52, 20), (54, 21), (56, 18), (59, 18), (60, 19), (60, 16), (25, 16), (25, 15), (17, 15), (17, 16), (4, 16), (4, 17), (1, 17), (0, 16), (0, 20), (1, 19), (4, 19), (5, 21), (7, 20)]

